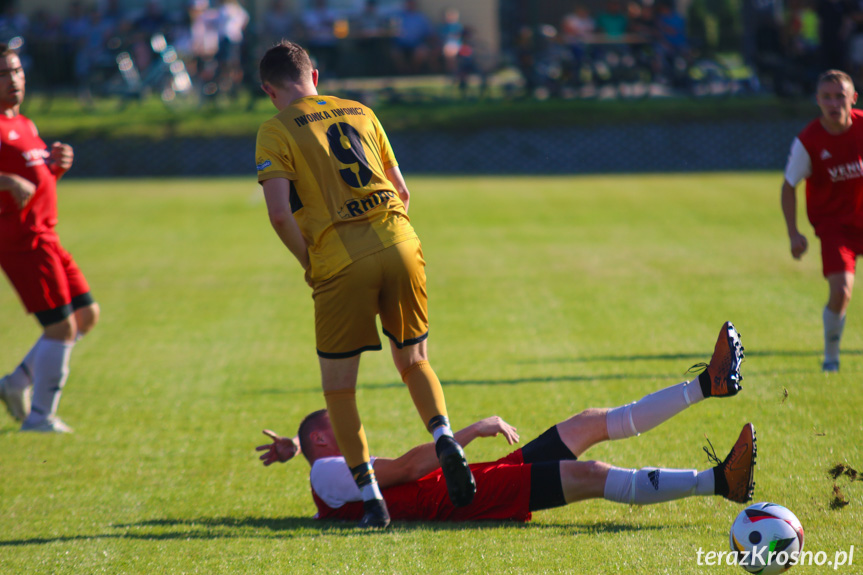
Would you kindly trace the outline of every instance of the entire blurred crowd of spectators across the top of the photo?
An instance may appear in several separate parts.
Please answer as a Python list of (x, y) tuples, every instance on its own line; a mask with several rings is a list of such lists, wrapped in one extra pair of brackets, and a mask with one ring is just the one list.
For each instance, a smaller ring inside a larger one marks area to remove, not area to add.
[[(258, 18), (245, 2), (167, 10), (148, 0), (131, 11), (120, 0), (69, 0), (65, 13), (25, 13), (24, 0), (5, 0), (0, 40), (17, 38), (32, 86), (85, 98), (128, 80), (130, 67), (141, 83), (174, 73), (170, 58), (202, 94), (236, 94), (256, 83), (259, 56), (281, 38), (306, 46), (325, 78), (448, 74), (464, 87), (511, 65), (527, 94), (633, 79), (680, 87), (717, 52), (744, 55), (779, 93), (811, 92), (826, 68), (863, 81), (863, 0), (690, 0), (685, 13), (675, 0), (500, 0), (495, 59), (456, 2), (430, 14), (421, 0), (258, 0)], [(551, 9), (537, 17), (540, 5)]]

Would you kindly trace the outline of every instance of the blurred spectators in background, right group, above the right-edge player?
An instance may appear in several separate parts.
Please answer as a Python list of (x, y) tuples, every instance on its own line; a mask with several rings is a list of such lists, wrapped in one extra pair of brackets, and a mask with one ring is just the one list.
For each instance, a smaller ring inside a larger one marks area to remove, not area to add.
[(863, 0), (576, 0), (566, 7), (552, 25), (512, 18), (509, 43), (529, 85), (560, 90), (635, 74), (680, 87), (705, 60), (729, 54), (752, 70), (759, 89), (780, 95), (813, 93), (830, 68), (863, 83)]

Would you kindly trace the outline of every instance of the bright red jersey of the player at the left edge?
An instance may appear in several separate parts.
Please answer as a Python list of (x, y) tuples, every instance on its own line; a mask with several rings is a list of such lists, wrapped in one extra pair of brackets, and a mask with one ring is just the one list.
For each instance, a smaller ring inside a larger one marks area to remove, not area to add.
[(0, 251), (28, 251), (38, 239), (57, 241), (57, 176), (45, 163), (48, 155), (33, 122), (21, 114), (0, 114), (0, 172), (36, 185), (23, 209), (18, 209), (12, 194), (0, 192)]

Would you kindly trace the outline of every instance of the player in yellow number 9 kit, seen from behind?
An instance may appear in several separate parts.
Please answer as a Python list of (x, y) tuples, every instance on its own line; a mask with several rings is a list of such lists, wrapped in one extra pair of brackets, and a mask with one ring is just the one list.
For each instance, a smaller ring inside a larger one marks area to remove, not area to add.
[(366, 106), (318, 94), (318, 71), (301, 46), (282, 40), (261, 58), (259, 71), (278, 114), (258, 132), (258, 180), (270, 224), (312, 288), (326, 418), (338, 444), (334, 455), (344, 456), (362, 496), (359, 526), (390, 523), (356, 402), (360, 355), (382, 347), (378, 319), (434, 438), (449, 498), (456, 507), (469, 505), (476, 482), (429, 363), (425, 258), (387, 136)]

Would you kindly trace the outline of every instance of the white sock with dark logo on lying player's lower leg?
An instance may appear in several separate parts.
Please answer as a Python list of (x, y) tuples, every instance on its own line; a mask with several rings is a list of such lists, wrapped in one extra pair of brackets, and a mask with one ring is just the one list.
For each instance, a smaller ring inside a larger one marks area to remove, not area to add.
[(713, 489), (713, 469), (698, 473), (694, 469), (612, 467), (603, 497), (618, 503), (650, 505), (693, 495), (714, 495)]

